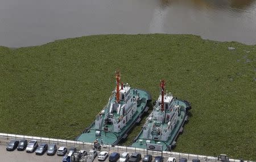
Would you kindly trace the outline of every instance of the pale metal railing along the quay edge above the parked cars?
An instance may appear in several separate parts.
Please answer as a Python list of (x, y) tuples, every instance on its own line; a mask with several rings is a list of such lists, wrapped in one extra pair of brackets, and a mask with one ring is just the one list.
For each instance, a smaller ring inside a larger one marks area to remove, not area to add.
[[(43, 137), (36, 137), (36, 136), (26, 136), (26, 135), (15, 135), (15, 134), (3, 134), (0, 133), (0, 144), (6, 144), (10, 140), (20, 140), (20, 139), (27, 139), (27, 140), (38, 140), (40, 143), (55, 143), (58, 146), (69, 146), (69, 147), (77, 147), (80, 149), (84, 148), (92, 148), (93, 143), (86, 143), (86, 142), (80, 142), (75, 140), (64, 140), (64, 139), (53, 139), (53, 138), (43, 138)], [(104, 145), (102, 148), (102, 151), (116, 151), (116, 152), (140, 152), (142, 154), (151, 154), (152, 156), (159, 156), (162, 154), (162, 152), (159, 151), (150, 151), (142, 148), (134, 148), (134, 147), (126, 147), (126, 146), (110, 146), (110, 145)], [(202, 161), (218, 161), (217, 157), (213, 156), (203, 156), (203, 155), (193, 155), (188, 153), (179, 153), (179, 152), (169, 152), (169, 151), (163, 151), (163, 156), (170, 157), (174, 156), (177, 159), (180, 159), (181, 157), (187, 158), (187, 159), (199, 159)], [(230, 162), (241, 162), (241, 160), (236, 159), (229, 159)], [(246, 160), (245, 160), (246, 161)]]

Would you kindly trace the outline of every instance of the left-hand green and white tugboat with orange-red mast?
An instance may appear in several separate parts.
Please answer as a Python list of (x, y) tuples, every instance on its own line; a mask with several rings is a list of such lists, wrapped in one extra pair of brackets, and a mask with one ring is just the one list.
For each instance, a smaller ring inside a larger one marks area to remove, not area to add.
[(134, 124), (141, 121), (143, 113), (148, 110), (150, 93), (131, 88), (129, 84), (122, 84), (119, 71), (115, 72), (115, 78), (117, 86), (108, 104), (76, 140), (115, 145), (126, 138)]

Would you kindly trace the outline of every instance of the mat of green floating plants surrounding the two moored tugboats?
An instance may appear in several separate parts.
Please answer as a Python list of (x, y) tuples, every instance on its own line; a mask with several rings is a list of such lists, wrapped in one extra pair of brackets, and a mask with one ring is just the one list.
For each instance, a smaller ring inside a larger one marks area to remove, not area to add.
[(165, 78), (168, 92), (192, 103), (175, 151), (256, 160), (256, 45), (193, 35), (98, 35), (0, 47), (0, 58), (0, 132), (74, 139), (108, 102), (119, 68), (123, 82), (153, 99)]

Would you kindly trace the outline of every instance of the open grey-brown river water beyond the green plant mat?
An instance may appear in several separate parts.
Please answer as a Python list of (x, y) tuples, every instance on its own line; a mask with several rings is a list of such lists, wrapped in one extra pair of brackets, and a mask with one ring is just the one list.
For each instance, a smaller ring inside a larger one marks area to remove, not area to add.
[(0, 45), (7, 47), (95, 34), (148, 33), (256, 44), (256, 1), (0, 1)]

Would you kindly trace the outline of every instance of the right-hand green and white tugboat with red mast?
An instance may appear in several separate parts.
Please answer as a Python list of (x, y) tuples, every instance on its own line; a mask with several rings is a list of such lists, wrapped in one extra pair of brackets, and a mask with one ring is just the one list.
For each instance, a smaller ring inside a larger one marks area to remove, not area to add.
[(147, 117), (139, 135), (134, 139), (132, 147), (154, 150), (170, 150), (175, 146), (175, 139), (183, 130), (184, 122), (188, 119), (191, 105), (164, 93), (164, 80), (160, 82), (161, 92), (155, 103), (154, 110)]

